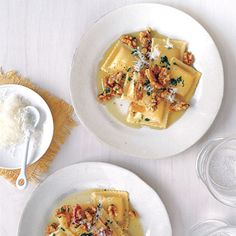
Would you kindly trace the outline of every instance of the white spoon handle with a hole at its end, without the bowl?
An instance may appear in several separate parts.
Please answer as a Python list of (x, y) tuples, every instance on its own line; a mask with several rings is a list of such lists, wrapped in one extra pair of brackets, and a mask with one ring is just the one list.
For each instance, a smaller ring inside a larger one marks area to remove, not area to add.
[(28, 180), (26, 178), (26, 165), (27, 165), (27, 157), (28, 157), (28, 151), (29, 151), (30, 136), (31, 136), (31, 133), (28, 132), (26, 135), (26, 147), (25, 147), (24, 159), (21, 164), (20, 174), (16, 180), (16, 187), (19, 190), (25, 189), (28, 185)]

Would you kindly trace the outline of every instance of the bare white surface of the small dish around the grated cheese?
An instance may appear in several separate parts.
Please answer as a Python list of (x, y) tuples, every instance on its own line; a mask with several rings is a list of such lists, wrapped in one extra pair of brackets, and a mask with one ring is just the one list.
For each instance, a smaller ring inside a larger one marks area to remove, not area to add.
[[(42, 130), (39, 140), (34, 143), (32, 139), (29, 146), (29, 155), (27, 164), (32, 164), (39, 160), (47, 151), (53, 137), (53, 118), (47, 103), (43, 98), (33, 90), (21, 85), (8, 84), (0, 86), (0, 95), (16, 94), (22, 96), (30, 105), (35, 106), (40, 112), (40, 122), (37, 129)], [(36, 146), (36, 147), (35, 147)], [(25, 144), (17, 145), (9, 149), (0, 148), (0, 168), (18, 169), (21, 166)]]

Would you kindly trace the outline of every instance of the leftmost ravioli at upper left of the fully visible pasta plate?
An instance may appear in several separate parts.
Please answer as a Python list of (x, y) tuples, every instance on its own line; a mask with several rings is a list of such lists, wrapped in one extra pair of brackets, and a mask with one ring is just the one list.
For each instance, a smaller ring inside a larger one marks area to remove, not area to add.
[(128, 69), (133, 65), (134, 61), (137, 61), (137, 58), (131, 53), (132, 50), (128, 46), (117, 41), (101, 66), (101, 70), (106, 73), (114, 73)]

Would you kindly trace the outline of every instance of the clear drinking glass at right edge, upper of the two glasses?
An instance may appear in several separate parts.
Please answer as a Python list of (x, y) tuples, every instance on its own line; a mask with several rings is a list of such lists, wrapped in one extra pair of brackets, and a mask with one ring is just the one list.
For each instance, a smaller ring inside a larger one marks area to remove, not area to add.
[(209, 141), (198, 155), (196, 168), (217, 200), (236, 207), (236, 137)]

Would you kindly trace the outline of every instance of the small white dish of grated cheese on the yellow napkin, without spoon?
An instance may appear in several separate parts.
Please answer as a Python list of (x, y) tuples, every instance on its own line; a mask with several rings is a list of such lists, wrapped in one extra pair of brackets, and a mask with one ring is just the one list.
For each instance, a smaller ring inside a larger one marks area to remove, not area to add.
[(32, 164), (47, 151), (53, 137), (53, 118), (47, 103), (33, 90), (21, 85), (0, 86), (0, 167), (18, 169), (25, 147), (27, 122), (24, 108), (35, 106), (42, 119), (32, 134), (27, 164)]

